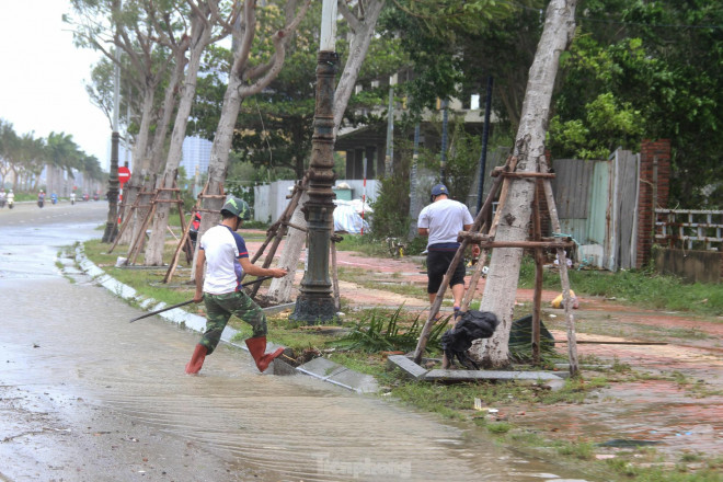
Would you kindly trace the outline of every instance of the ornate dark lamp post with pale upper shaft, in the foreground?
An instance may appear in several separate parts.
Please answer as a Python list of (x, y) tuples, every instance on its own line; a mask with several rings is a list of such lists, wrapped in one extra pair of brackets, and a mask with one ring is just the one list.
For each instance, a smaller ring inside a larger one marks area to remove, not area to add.
[(313, 120), (309, 200), (301, 209), (307, 221), (307, 269), (301, 279), (292, 320), (325, 323), (336, 315), (329, 277), (329, 255), (334, 226), (334, 79), (338, 66), (335, 51), (336, 0), (324, 0), (321, 44), (317, 64), (317, 101)]

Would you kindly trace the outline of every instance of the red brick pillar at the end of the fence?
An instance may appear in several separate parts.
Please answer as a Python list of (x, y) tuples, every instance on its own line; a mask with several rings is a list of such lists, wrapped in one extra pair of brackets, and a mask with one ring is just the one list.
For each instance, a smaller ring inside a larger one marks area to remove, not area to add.
[(670, 140), (643, 140), (640, 146), (640, 195), (638, 198), (638, 254), (635, 267), (643, 267), (651, 261), (655, 236), (655, 208), (667, 206), (669, 185)]

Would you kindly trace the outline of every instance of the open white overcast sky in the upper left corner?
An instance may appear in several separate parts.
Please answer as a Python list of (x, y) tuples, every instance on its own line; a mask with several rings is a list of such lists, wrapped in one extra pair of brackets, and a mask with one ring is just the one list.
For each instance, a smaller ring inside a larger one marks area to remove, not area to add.
[(70, 134), (107, 171), (111, 124), (84, 87), (101, 54), (73, 46), (64, 13), (66, 0), (0, 0), (0, 118), (19, 136)]

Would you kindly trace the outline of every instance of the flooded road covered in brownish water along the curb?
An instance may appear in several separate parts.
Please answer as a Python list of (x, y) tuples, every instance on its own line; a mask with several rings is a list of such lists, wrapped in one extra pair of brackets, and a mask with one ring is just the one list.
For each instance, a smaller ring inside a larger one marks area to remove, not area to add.
[(186, 376), (197, 333), (59, 267), (106, 215), (0, 210), (0, 481), (593, 480), (227, 345)]

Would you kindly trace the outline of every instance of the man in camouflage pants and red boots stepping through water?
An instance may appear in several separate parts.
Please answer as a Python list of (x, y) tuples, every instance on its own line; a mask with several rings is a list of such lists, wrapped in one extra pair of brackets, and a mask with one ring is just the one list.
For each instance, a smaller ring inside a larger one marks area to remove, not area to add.
[[(251, 264), (249, 251), (241, 234), (236, 232), (250, 214), (249, 205), (238, 197), (229, 198), (221, 208), (221, 223), (210, 228), (200, 238), (196, 257), (195, 302), (206, 305), (206, 331), (186, 365), (186, 374), (197, 374), (221, 340), (221, 332), (232, 314), (253, 328), (252, 337), (246, 340), (249, 352), (259, 371), (264, 371), (284, 348), (266, 354), (266, 315), (241, 288), (243, 273), (252, 276), (280, 278), (287, 271)], [(204, 264), (207, 265), (204, 279)]]

